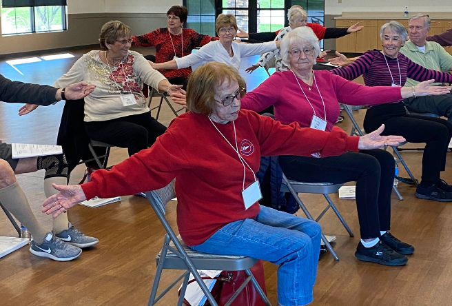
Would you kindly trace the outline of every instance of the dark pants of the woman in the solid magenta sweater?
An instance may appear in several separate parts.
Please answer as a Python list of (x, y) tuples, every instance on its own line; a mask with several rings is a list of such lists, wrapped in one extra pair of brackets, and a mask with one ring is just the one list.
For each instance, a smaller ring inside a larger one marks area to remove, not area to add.
[(356, 207), (362, 239), (376, 238), (391, 225), (393, 156), (384, 150), (362, 150), (339, 156), (279, 156), (287, 179), (307, 183), (356, 181)]

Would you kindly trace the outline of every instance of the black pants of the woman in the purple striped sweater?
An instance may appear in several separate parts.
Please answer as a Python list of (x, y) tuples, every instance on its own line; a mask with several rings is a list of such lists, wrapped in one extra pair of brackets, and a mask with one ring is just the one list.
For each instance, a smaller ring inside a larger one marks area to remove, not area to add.
[(410, 143), (426, 143), (422, 156), (422, 180), (438, 182), (440, 172), (446, 168), (452, 124), (440, 118), (406, 114), (402, 102), (377, 105), (367, 110), (364, 118), (367, 133), (377, 130), (382, 124), (382, 135), (399, 135)]

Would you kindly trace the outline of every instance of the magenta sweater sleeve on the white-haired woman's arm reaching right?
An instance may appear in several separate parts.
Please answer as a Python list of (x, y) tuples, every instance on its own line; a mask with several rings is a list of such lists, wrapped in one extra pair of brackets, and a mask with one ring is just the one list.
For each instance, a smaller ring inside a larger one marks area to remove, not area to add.
[(403, 99), (400, 87), (364, 86), (353, 81), (347, 81), (335, 74), (331, 74), (331, 81), (340, 103), (349, 105), (376, 105), (401, 101)]

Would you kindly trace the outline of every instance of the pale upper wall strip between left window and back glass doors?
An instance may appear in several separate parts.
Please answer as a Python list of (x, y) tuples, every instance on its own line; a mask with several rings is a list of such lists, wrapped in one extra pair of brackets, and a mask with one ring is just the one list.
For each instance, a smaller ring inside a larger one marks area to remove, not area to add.
[[(76, 1), (76, 0), (74, 0)], [(183, 0), (104, 0), (105, 12), (166, 13), (172, 6), (182, 6)]]

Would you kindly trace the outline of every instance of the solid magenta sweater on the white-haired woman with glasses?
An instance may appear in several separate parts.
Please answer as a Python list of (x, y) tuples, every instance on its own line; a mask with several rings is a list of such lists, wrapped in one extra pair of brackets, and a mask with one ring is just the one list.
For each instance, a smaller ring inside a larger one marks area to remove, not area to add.
[(314, 114), (313, 108), (318, 117), (325, 119), (321, 94), (327, 113), (326, 130), (331, 131), (340, 113), (339, 103), (364, 105), (371, 101), (373, 103), (387, 103), (402, 99), (400, 88), (367, 87), (342, 79), (327, 70), (316, 70), (314, 76), (316, 81), (313, 81), (312, 86), (298, 79), (301, 88), (311, 102), (312, 108), (300, 90), (296, 81), (297, 77), (291, 70), (272, 74), (241, 99), (241, 107), (260, 112), (270, 105), (274, 105), (276, 120), (284, 124), (298, 122), (302, 128), (308, 128)]

